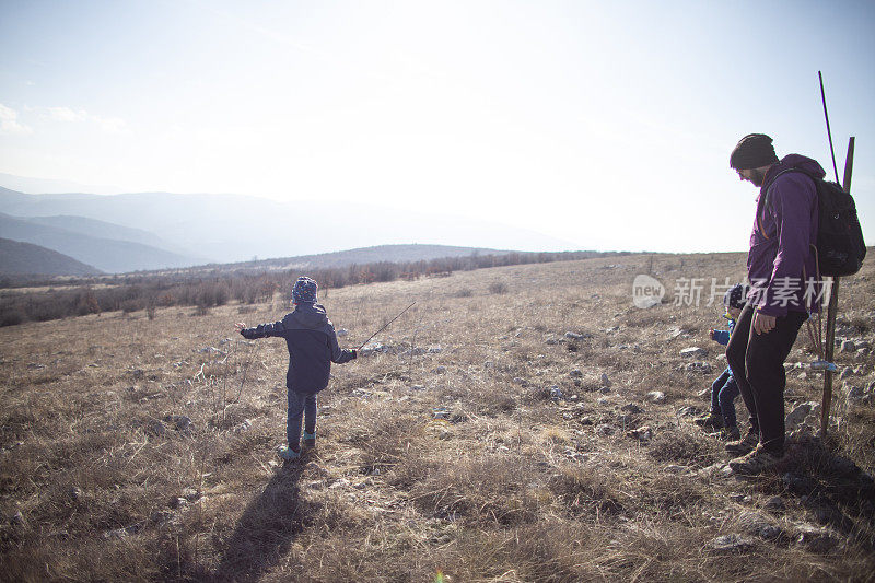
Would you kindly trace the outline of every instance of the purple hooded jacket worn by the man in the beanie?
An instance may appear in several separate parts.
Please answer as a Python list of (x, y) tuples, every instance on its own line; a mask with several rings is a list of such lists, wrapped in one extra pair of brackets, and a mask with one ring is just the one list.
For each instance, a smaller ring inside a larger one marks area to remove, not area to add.
[[(817, 243), (817, 188), (801, 172), (778, 176), (790, 168), (805, 170), (820, 178), (826, 174), (820, 164), (800, 154), (783, 158), (766, 173), (757, 208), (762, 197), (765, 205), (754, 220), (747, 276), (751, 285), (748, 300), (767, 316), (782, 317), (789, 311), (816, 312), (819, 307), (808, 300), (806, 310), (805, 299), (806, 280), (817, 279), (812, 248)], [(813, 298), (820, 292), (819, 284), (807, 287)]]

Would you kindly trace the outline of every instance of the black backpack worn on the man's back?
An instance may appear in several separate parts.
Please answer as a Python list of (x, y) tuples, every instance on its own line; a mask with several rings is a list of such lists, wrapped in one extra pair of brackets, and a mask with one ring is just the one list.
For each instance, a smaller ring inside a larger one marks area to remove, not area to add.
[[(856, 217), (853, 197), (836, 183), (824, 180), (802, 168), (778, 173), (766, 188), (760, 210), (768, 203), (769, 188), (781, 174), (800, 172), (814, 180), (817, 188), (819, 226), (817, 230), (817, 260), (821, 276), (853, 276), (863, 266), (866, 244)], [(759, 221), (760, 211), (757, 212)], [(761, 230), (761, 229), (760, 229)]]

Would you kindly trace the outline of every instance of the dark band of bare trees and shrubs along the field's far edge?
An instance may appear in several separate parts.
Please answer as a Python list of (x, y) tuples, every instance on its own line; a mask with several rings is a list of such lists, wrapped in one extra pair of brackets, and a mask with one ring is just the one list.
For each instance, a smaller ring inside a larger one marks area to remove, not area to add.
[[(159, 276), (133, 273), (90, 280), (43, 282), (55, 285), (47, 291), (7, 291), (0, 295), (0, 326), (25, 322), (47, 322), (70, 316), (103, 312), (138, 312), (145, 310), (151, 317), (156, 307), (195, 306), (200, 313), (231, 301), (245, 304), (269, 302), (277, 290), (287, 290), (299, 276), (306, 275), (319, 282), (322, 289), (336, 289), (376, 281), (419, 279), (447, 276), (509, 265), (567, 261), (629, 255), (627, 252), (562, 252), (509, 253), (502, 255), (470, 255), (422, 261), (351, 265), (345, 268), (310, 270), (276, 270), (260, 273), (222, 272), (205, 276), (174, 273)], [(33, 285), (35, 282), (32, 282)]]

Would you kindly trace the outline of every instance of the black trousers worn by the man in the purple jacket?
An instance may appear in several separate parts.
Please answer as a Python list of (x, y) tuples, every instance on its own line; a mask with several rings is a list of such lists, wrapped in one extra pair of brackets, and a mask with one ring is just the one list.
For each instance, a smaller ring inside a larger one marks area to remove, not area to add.
[(750, 429), (759, 433), (766, 451), (784, 453), (784, 360), (808, 314), (788, 312), (774, 328), (754, 331), (754, 306), (747, 304), (738, 316), (726, 347), (726, 360), (735, 374), (742, 399), (750, 411)]

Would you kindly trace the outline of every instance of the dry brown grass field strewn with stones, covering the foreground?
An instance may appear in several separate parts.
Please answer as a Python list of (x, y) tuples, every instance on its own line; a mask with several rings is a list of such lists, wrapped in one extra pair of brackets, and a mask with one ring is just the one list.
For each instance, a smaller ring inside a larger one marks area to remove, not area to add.
[[(233, 330), (281, 318), (284, 294), (248, 312), (2, 328), (0, 579), (873, 580), (873, 261), (842, 281), (838, 336), (859, 350), (837, 350), (829, 439), (802, 422), (786, 467), (758, 479), (732, 476), (722, 442), (692, 423), (725, 366), (708, 339), (722, 312), (632, 305), (638, 273), (669, 296), (705, 278), (707, 294), (711, 278), (739, 281), (744, 259), (629, 256), (323, 291), (346, 347), (417, 304), (380, 350), (332, 369), (317, 447), (289, 467), (275, 454), (284, 342)], [(795, 366), (809, 346), (801, 334), (789, 359), (788, 412), (820, 399), (821, 375)], [(708, 350), (700, 364), (689, 347)]]

